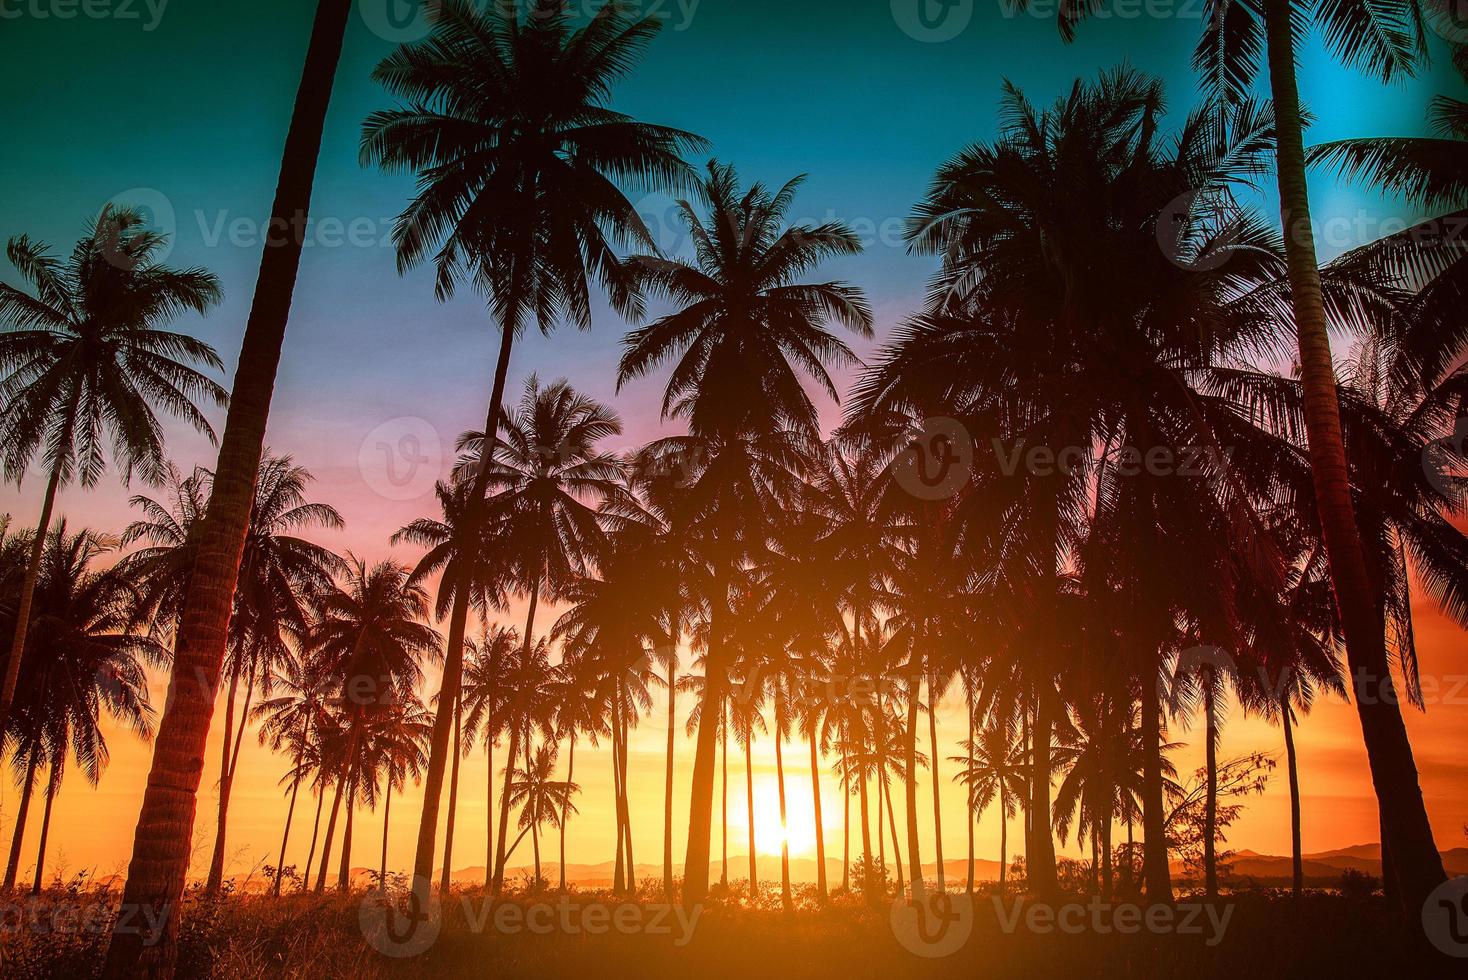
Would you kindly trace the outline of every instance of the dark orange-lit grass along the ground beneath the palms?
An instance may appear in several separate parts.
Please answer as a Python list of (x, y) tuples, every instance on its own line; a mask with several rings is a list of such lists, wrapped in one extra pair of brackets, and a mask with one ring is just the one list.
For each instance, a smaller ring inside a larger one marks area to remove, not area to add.
[[(780, 910), (766, 889), (755, 908), (712, 898), (686, 945), (666, 917), (671, 935), (618, 932), (571, 935), (553, 926), (545, 935), (521, 927), (505, 933), (474, 918), (487, 898), (482, 889), (455, 892), (442, 905), (440, 930), (421, 955), (389, 958), (376, 952), (361, 927), (364, 895), (233, 895), (204, 901), (191, 895), (179, 936), (179, 976), (313, 980), (417, 980), (427, 977), (1188, 977), (1270, 980), (1273, 977), (1453, 976), (1455, 964), (1415, 949), (1387, 915), (1380, 896), (1311, 893), (1299, 901), (1276, 892), (1235, 893), (1227, 929), (1217, 945), (1204, 935), (1075, 935), (1006, 932), (994, 896), (975, 898), (972, 935), (953, 955), (923, 958), (894, 937), (888, 907), (868, 908), (856, 896), (815, 904), (809, 889), (793, 914)], [(738, 898), (738, 896), (735, 896)], [(659, 914), (658, 889), (644, 885), (637, 902), (606, 893), (517, 893), (490, 907), (562, 902), (583, 910), (606, 907), (608, 921)], [(1085, 902), (1088, 899), (1075, 899)], [(1004, 899), (1003, 908), (1011, 908)], [(95, 976), (107, 943), (116, 896), (51, 891), (3, 904), (0, 976), (82, 979)], [(617, 905), (637, 911), (617, 913)], [(590, 920), (586, 920), (590, 921)], [(1462, 961), (1456, 965), (1461, 968)], [(1462, 976), (1462, 974), (1458, 974)]]

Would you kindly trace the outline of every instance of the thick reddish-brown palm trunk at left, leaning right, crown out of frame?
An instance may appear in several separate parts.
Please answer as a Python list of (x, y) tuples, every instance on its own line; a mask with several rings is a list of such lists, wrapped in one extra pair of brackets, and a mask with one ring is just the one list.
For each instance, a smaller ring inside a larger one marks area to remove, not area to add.
[[(316, 160), (342, 53), (351, 0), (319, 0), (295, 110), (286, 134), (280, 179), (270, 208), (273, 236), (260, 263), (254, 304), (235, 370), (225, 436), (214, 467), (208, 512), (198, 535), (188, 600), (175, 644), (170, 697), (159, 725), (153, 767), (138, 816), (122, 902), (161, 921), (157, 942), (119, 915), (103, 967), (104, 980), (170, 977), (178, 957), (179, 896), (192, 846), (204, 745), (214, 714), (225, 657), (229, 607), (239, 578), (250, 508), (254, 500), (266, 420), (280, 345), (301, 266), (305, 216)], [(192, 690), (189, 690), (192, 685)]]

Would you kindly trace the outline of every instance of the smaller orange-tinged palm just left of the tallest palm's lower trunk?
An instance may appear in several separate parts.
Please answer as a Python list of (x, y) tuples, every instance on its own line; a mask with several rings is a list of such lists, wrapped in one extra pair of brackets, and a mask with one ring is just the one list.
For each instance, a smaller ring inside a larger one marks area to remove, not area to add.
[(316, 604), (320, 618), (311, 629), (311, 650), (338, 682), (345, 744), (338, 758), (336, 798), (326, 824), (316, 891), (326, 886), (326, 855), (332, 852), (336, 816), (346, 798), (346, 832), (338, 888), (346, 891), (351, 867), (351, 816), (361, 789), (363, 738), (371, 719), (410, 703), (423, 681), (423, 659), (442, 656), (439, 634), (423, 621), (429, 596), (410, 572), (392, 562), (367, 566), (348, 556), (344, 588), (323, 593)]

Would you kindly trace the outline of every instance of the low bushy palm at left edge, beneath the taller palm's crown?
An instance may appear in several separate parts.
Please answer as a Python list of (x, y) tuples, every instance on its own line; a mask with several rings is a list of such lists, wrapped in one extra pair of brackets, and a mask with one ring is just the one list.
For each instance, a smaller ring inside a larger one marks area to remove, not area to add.
[[(116, 568), (92, 568), (110, 546), (91, 531), (69, 535), (65, 521), (47, 533), (47, 541), (34, 591), (35, 629), (26, 643), (16, 688), (19, 697), (7, 725), (7, 735), (16, 747), (15, 772), (18, 776), (25, 772), (6, 864), (3, 888), (7, 892), (15, 888), (38, 766), (46, 764), (48, 776), (32, 883), (35, 893), (40, 893), (44, 880), (51, 805), (68, 751), (87, 780), (95, 785), (109, 760), (103, 714), (150, 739), (153, 707), (148, 704), (144, 663), (157, 666), (167, 660), (167, 651), (134, 625), (132, 588), (126, 575)], [(9, 557), (21, 556), (12, 552)], [(6, 578), (13, 581), (18, 575)], [(6, 615), (0, 625), (15, 628), (15, 596), (4, 599)]]

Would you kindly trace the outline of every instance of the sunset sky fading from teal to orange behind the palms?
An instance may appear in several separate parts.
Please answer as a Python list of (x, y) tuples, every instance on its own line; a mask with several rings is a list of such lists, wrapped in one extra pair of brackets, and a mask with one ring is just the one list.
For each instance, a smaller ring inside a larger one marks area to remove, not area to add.
[[(931, 260), (906, 254), (903, 220), (938, 164), (964, 145), (994, 136), (1004, 79), (1032, 101), (1048, 103), (1073, 79), (1127, 63), (1166, 81), (1174, 119), (1198, 97), (1188, 63), (1201, 28), (1199, 0), (1111, 6), (1108, 16), (1085, 25), (1069, 45), (1061, 44), (1053, 22), (1055, 4), (1044, 0), (1032, 4), (1032, 13), (1016, 13), (1009, 0), (957, 0), (932, 28), (919, 18), (919, 0), (640, 3), (665, 26), (634, 75), (617, 87), (614, 106), (703, 135), (713, 156), (734, 163), (746, 179), (777, 183), (809, 175), (793, 217), (840, 219), (862, 235), (863, 254), (832, 261), (822, 273), (866, 289), (876, 312), (875, 343), (920, 305), (932, 271)], [(455, 436), (482, 424), (498, 334), (470, 292), (440, 304), (429, 273), (396, 273), (389, 229), (413, 192), (413, 180), (358, 164), (361, 120), (389, 104), (370, 81), (370, 70), (415, 23), (411, 16), (389, 18), (388, 4), (398, 0), (354, 4), (267, 439), (273, 450), (291, 453), (311, 469), (314, 499), (335, 505), (346, 519), (344, 531), (320, 533), (317, 540), (370, 560), (390, 556), (411, 562), (415, 555), (390, 547), (388, 537), (433, 511), (433, 483), (446, 474)], [(413, 15), (415, 6), (393, 9)], [(590, 0), (573, 0), (574, 9), (589, 6)], [(6, 92), (0, 236), (25, 233), (66, 251), (104, 204), (145, 207), (154, 226), (173, 235), (170, 264), (206, 267), (223, 283), (225, 301), (217, 310), (178, 326), (217, 348), (226, 361), (220, 380), (228, 383), (313, 7), (301, 0), (0, 0), (0, 91)], [(1452, 84), (1436, 67), (1380, 85), (1337, 67), (1312, 40), (1302, 51), (1301, 69), (1302, 95), (1314, 116), (1308, 142), (1421, 132), (1428, 98)], [(1326, 175), (1314, 176), (1311, 191), (1324, 257), (1417, 217), (1400, 202), (1339, 186)], [(652, 194), (634, 200), (659, 242), (677, 248), (671, 198)], [(1267, 186), (1260, 205), (1267, 213), (1276, 208)], [(0, 279), (22, 285), (7, 264), (0, 264)], [(624, 434), (614, 449), (675, 431), (658, 418), (661, 379), (615, 389), (614, 364), (627, 329), (599, 304), (589, 333), (561, 329), (550, 336), (527, 334), (511, 365), (511, 392), (531, 373), (570, 379), (621, 414)], [(863, 355), (873, 349), (873, 343), (856, 346)], [(850, 377), (847, 373), (841, 381)], [(828, 421), (840, 417), (835, 405), (822, 411)], [(222, 424), (223, 412), (213, 411), (211, 418)], [(195, 464), (213, 465), (208, 442), (186, 428), (169, 425), (169, 447), (185, 471)], [(40, 484), (32, 475), (19, 489), (0, 489), (0, 512), (34, 519)], [(59, 513), (73, 527), (117, 531), (135, 515), (128, 496), (141, 491), (147, 489), (123, 487), (109, 474), (95, 489), (68, 489)], [(512, 609), (509, 619), (521, 615)], [(545, 625), (549, 619), (542, 619)], [(1408, 726), (1439, 844), (1447, 848), (1465, 844), (1468, 823), (1468, 767), (1461, 758), (1468, 742), (1468, 685), (1462, 684), (1468, 653), (1462, 634), (1434, 610), (1420, 609), (1418, 625), (1422, 672), (1437, 681), (1440, 694), (1425, 714), (1409, 710)], [(161, 687), (157, 694), (161, 704)], [(681, 738), (686, 709), (680, 706), (677, 717), (675, 814), (687, 811), (684, 763), (691, 742)], [(639, 861), (661, 860), (668, 725), (662, 712), (659, 706), (643, 719), (633, 744)], [(962, 738), (962, 706), (956, 701), (942, 706), (940, 722), (942, 738)], [(200, 863), (207, 866), (213, 841), (219, 729), (216, 723), (200, 791), (197, 873)], [(1189, 742), (1179, 754), (1179, 769), (1191, 772), (1201, 757), (1198, 736), (1177, 731), (1174, 738)], [(1301, 726), (1298, 741), (1305, 849), (1376, 841), (1374, 800), (1353, 709), (1320, 704)], [(275, 861), (285, 817), (277, 786), (282, 760), (258, 750), (252, 734), (247, 742), (229, 824), (233, 874)], [(119, 731), (110, 734), (110, 745), (112, 764), (100, 786), (72, 776), (57, 798), (53, 866), (107, 874), (126, 864), (148, 748)], [(1254, 750), (1282, 757), (1280, 735), (1235, 710), (1224, 753)], [(788, 767), (793, 785), (809, 780), (800, 758), (794, 753)], [(756, 742), (755, 769), (756, 838), (769, 849), (778, 842), (778, 827), (768, 739)], [(578, 750), (577, 772), (584, 772), (578, 779), (584, 792), (581, 814), (571, 822), (568, 857), (609, 860), (614, 836), (605, 753)], [(461, 773), (465, 791), (455, 867), (483, 863), (484, 776), (483, 756), (474, 754)], [(735, 766), (730, 779), (741, 786), (743, 770)], [(793, 792), (791, 838), (799, 848), (813, 835), (809, 782)], [(829, 773), (826, 794), (826, 833), (838, 851), (841, 813)], [(10, 780), (0, 780), (0, 833), (9, 835), (16, 797)], [(964, 839), (962, 794), (953, 788), (942, 802), (944, 849), (951, 858)], [(730, 807), (735, 827), (746, 826), (740, 794), (731, 795)], [(410, 863), (417, 820), (415, 791), (410, 789), (392, 807), (393, 867)], [(380, 816), (363, 816), (357, 826), (354, 864), (371, 864)], [(302, 827), (298, 813), (292, 839), (299, 846), (292, 848), (288, 863), (304, 860), (310, 830)], [(731, 852), (743, 854), (743, 830), (734, 833)], [(998, 836), (997, 817), (985, 814), (978, 827), (979, 854), (997, 857)], [(26, 861), (34, 839), (35, 829)], [(684, 827), (678, 820), (674, 841), (681, 855)], [(1283, 767), (1261, 797), (1248, 801), (1230, 832), (1230, 846), (1287, 852)]]

